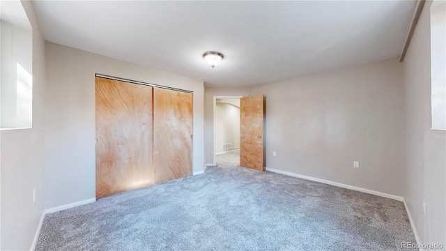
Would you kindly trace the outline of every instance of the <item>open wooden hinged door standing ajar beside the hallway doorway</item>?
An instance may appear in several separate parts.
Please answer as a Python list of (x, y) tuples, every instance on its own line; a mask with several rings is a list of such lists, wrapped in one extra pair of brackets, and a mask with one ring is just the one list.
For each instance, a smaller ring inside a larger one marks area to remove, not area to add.
[(240, 98), (240, 166), (263, 171), (263, 95)]

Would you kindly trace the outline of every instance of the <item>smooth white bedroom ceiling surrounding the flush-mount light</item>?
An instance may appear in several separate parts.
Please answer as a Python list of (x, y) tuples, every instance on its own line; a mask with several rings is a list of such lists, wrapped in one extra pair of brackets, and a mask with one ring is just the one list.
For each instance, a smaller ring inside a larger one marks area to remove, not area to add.
[[(415, 1), (35, 1), (46, 40), (210, 87), (399, 56)], [(224, 54), (214, 69), (201, 55)]]

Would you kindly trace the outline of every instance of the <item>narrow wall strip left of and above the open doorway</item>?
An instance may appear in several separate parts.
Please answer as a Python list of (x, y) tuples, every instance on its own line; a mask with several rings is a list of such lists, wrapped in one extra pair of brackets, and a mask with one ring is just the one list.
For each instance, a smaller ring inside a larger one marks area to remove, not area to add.
[(214, 97), (243, 97), (248, 96), (248, 89), (206, 88), (206, 165), (213, 165), (214, 161)]

